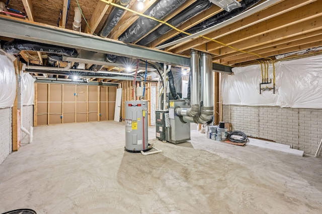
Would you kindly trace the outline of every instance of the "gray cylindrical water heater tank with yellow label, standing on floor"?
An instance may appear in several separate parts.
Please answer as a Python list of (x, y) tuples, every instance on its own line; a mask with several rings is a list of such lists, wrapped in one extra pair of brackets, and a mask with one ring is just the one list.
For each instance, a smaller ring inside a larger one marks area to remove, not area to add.
[(125, 102), (125, 150), (128, 152), (147, 151), (147, 101)]

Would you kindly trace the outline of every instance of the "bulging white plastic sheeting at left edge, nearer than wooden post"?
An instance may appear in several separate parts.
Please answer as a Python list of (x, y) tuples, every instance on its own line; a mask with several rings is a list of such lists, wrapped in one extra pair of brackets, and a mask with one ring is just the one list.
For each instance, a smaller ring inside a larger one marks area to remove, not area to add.
[(14, 105), (16, 84), (14, 64), (5, 52), (0, 51), (0, 108)]

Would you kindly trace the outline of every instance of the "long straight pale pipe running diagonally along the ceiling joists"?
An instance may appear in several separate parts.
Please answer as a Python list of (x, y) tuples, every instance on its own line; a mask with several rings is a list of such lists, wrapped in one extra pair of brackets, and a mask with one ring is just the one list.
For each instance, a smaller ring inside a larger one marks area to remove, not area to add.
[[(266, 9), (266, 8), (268, 8), (268, 7), (271, 7), (272, 5), (275, 5), (275, 4), (279, 3), (280, 1), (281, 1), (281, 0), (267, 0), (267, 1), (263, 2), (262, 4), (260, 4), (260, 5), (258, 5), (258, 6), (255, 6), (254, 8), (251, 8), (251, 9), (247, 10), (246, 12), (241, 13), (241, 14), (239, 14), (239, 15), (237, 15), (237, 16), (235, 16), (235, 17), (233, 17), (233, 18), (229, 19), (229, 20), (226, 20), (226, 21), (224, 21), (224, 22), (222, 22), (222, 23), (219, 23), (219, 24), (217, 24), (217, 25), (214, 25), (214, 26), (212, 26), (212, 27), (210, 27), (210, 28), (207, 28), (207, 29), (205, 29), (205, 30), (203, 30), (203, 31), (199, 31), (198, 33), (195, 33), (195, 34), (190, 35), (190, 36), (188, 36), (188, 37), (184, 37), (184, 38), (182, 38), (182, 39), (179, 39), (179, 40), (176, 40), (176, 41), (173, 41), (173, 42), (167, 43), (167, 44), (165, 44), (165, 45), (160, 45), (160, 46), (156, 47), (155, 49), (163, 49), (163, 48), (167, 48), (167, 47), (172, 46), (172, 45), (177, 45), (178, 43), (182, 43), (182, 42), (186, 42), (186, 41), (188, 41), (188, 40), (195, 39), (195, 38), (197, 38), (197, 37), (199, 37), (199, 36), (201, 36), (201, 35), (206, 35), (206, 34), (208, 34), (208, 33), (210, 33), (210, 32), (216, 31), (216, 30), (218, 30), (218, 29), (220, 29), (220, 28), (223, 28), (223, 27), (225, 27), (225, 26), (228, 26), (228, 25), (230, 25), (230, 24), (232, 24), (232, 23), (235, 23), (235, 22), (237, 22), (237, 21), (240, 21), (240, 20), (242, 20), (242, 19), (245, 19), (246, 17), (249, 17), (249, 16), (251, 16), (252, 14), (255, 14), (255, 13), (261, 12), (262, 10), (264, 10), (264, 9)], [(256, 24), (256, 23), (257, 23), (257, 22), (255, 22), (255, 23), (253, 23), (253, 24)], [(240, 30), (240, 29), (239, 29), (239, 30)]]

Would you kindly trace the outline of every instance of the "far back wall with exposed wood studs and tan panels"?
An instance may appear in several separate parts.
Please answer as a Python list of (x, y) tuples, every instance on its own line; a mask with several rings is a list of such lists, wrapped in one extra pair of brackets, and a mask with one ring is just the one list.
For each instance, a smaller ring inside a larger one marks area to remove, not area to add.
[(35, 84), (34, 125), (113, 120), (116, 87)]

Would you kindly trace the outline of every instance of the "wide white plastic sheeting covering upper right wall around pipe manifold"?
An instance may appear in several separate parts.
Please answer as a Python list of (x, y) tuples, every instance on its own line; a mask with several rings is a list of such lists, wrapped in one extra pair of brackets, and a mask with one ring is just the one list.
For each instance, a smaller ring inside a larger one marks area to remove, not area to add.
[[(233, 68), (232, 71), (234, 75), (222, 75), (224, 105), (322, 108), (322, 56), (275, 63), (275, 94), (273, 91), (260, 94), (260, 65)], [(270, 78), (273, 79), (272, 65)], [(267, 86), (272, 87), (272, 84)]]

